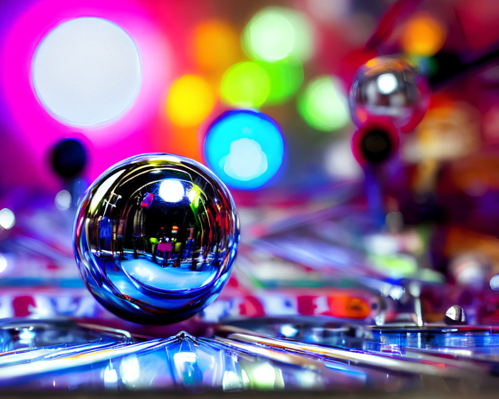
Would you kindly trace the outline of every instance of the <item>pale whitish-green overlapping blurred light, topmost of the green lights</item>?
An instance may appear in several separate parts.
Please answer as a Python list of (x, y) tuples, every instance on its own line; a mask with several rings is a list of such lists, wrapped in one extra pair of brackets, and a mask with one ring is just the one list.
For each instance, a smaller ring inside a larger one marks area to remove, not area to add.
[(310, 19), (285, 7), (266, 7), (258, 11), (246, 25), (242, 40), (248, 55), (270, 62), (290, 55), (307, 61), (315, 44)]

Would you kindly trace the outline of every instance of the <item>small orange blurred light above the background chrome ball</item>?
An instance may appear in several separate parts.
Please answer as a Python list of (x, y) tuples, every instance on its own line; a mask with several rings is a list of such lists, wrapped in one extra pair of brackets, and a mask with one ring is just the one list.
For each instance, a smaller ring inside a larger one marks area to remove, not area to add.
[(428, 13), (418, 13), (403, 28), (402, 49), (411, 55), (429, 57), (442, 48), (445, 36), (445, 28), (437, 19)]

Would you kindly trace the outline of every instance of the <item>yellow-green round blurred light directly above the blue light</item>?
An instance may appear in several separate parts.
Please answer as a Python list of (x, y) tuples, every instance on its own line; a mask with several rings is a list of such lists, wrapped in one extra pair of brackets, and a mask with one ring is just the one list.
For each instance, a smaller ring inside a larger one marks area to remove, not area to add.
[(242, 108), (258, 108), (270, 93), (265, 70), (255, 62), (231, 66), (222, 77), (220, 95), (227, 104)]

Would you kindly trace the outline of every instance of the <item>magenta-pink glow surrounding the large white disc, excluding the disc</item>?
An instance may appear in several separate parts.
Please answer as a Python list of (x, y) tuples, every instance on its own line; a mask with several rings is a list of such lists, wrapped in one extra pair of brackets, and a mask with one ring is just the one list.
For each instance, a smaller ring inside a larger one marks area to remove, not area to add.
[[(11, 171), (2, 176), (2, 184), (58, 187), (46, 157), (62, 138), (88, 138), (84, 144), (91, 147), (90, 179), (123, 158), (157, 151), (151, 147), (150, 125), (171, 81), (172, 64), (166, 34), (148, 10), (132, 0), (41, 0), (23, 7), (0, 43), (0, 103), (6, 108), (2, 116), (6, 131), (0, 134), (4, 148), (9, 148), (2, 152), (0, 167)], [(82, 16), (108, 19), (122, 27), (138, 48), (142, 68), (134, 104), (121, 119), (90, 129), (54, 119), (38, 100), (31, 80), (31, 60), (40, 40), (59, 23)]]

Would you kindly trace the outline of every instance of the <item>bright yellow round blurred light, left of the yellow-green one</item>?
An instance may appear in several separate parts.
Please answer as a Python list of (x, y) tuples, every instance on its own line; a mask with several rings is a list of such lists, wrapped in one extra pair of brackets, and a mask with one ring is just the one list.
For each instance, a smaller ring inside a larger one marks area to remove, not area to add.
[(170, 88), (166, 112), (179, 127), (192, 127), (203, 122), (215, 107), (215, 95), (210, 84), (197, 75), (184, 75)]

